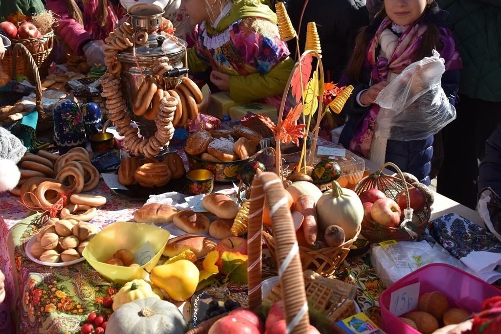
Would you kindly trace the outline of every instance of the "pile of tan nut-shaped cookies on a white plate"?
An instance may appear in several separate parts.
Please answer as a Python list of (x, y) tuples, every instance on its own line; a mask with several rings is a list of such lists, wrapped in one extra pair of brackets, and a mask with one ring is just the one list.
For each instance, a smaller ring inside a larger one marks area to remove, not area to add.
[(43, 262), (69, 262), (82, 257), (82, 251), (98, 232), (86, 222), (51, 218), (35, 235), (30, 247), (32, 255)]

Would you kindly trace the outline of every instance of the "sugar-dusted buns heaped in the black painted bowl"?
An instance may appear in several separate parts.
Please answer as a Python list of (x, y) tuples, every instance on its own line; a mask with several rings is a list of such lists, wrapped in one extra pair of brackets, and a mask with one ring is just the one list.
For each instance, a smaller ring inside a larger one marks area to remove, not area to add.
[(244, 126), (232, 130), (198, 130), (189, 135), (184, 150), (205, 161), (228, 162), (253, 156), (263, 137)]

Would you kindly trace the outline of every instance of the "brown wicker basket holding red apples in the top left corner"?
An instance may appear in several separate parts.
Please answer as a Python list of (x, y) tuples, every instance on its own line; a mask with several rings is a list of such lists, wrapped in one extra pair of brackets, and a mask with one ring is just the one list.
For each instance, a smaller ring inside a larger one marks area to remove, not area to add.
[[(30, 64), (25, 62), (14, 61), (14, 47), (22, 44), (26, 47), (27, 51), (32, 55), (35, 64), (38, 67), (39, 74), (47, 74), (47, 70), (52, 61), (52, 52), (54, 49), (54, 32), (50, 32), (41, 38), (29, 38), (24, 40), (11, 40), (12, 48), (7, 49), (2, 66), (7, 73), (12, 72), (13, 65), (16, 66), (16, 73), (27, 76), (30, 81), (36, 81), (35, 73)], [(15, 79), (15, 78), (13, 78)]]

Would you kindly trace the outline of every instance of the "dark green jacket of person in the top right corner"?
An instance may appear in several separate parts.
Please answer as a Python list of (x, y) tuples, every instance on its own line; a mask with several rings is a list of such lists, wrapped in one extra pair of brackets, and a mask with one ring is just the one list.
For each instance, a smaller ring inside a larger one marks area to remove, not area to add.
[(438, 0), (463, 61), (459, 93), (501, 101), (501, 1)]

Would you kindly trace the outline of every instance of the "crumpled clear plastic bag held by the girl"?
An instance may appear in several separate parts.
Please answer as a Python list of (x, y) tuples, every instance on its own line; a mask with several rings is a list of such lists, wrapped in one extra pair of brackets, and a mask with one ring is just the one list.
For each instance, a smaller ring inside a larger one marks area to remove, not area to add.
[(433, 50), (431, 57), (410, 64), (375, 103), (381, 107), (377, 131), (387, 139), (422, 140), (436, 134), (456, 118), (441, 86), (444, 60)]

